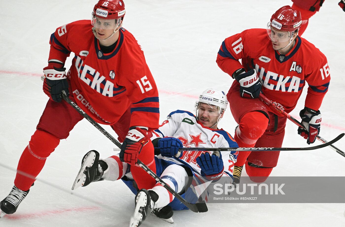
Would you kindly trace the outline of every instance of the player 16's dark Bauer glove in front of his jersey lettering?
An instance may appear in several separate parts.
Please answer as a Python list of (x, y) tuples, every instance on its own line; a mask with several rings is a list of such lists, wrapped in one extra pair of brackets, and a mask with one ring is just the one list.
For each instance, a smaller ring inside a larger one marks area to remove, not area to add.
[[(237, 71), (240, 72), (239, 70)], [(234, 78), (239, 82), (241, 86), (240, 95), (244, 98), (258, 98), (262, 85), (260, 83), (259, 76), (256, 74), (255, 69), (249, 70), (248, 72), (236, 72), (234, 73)]]

